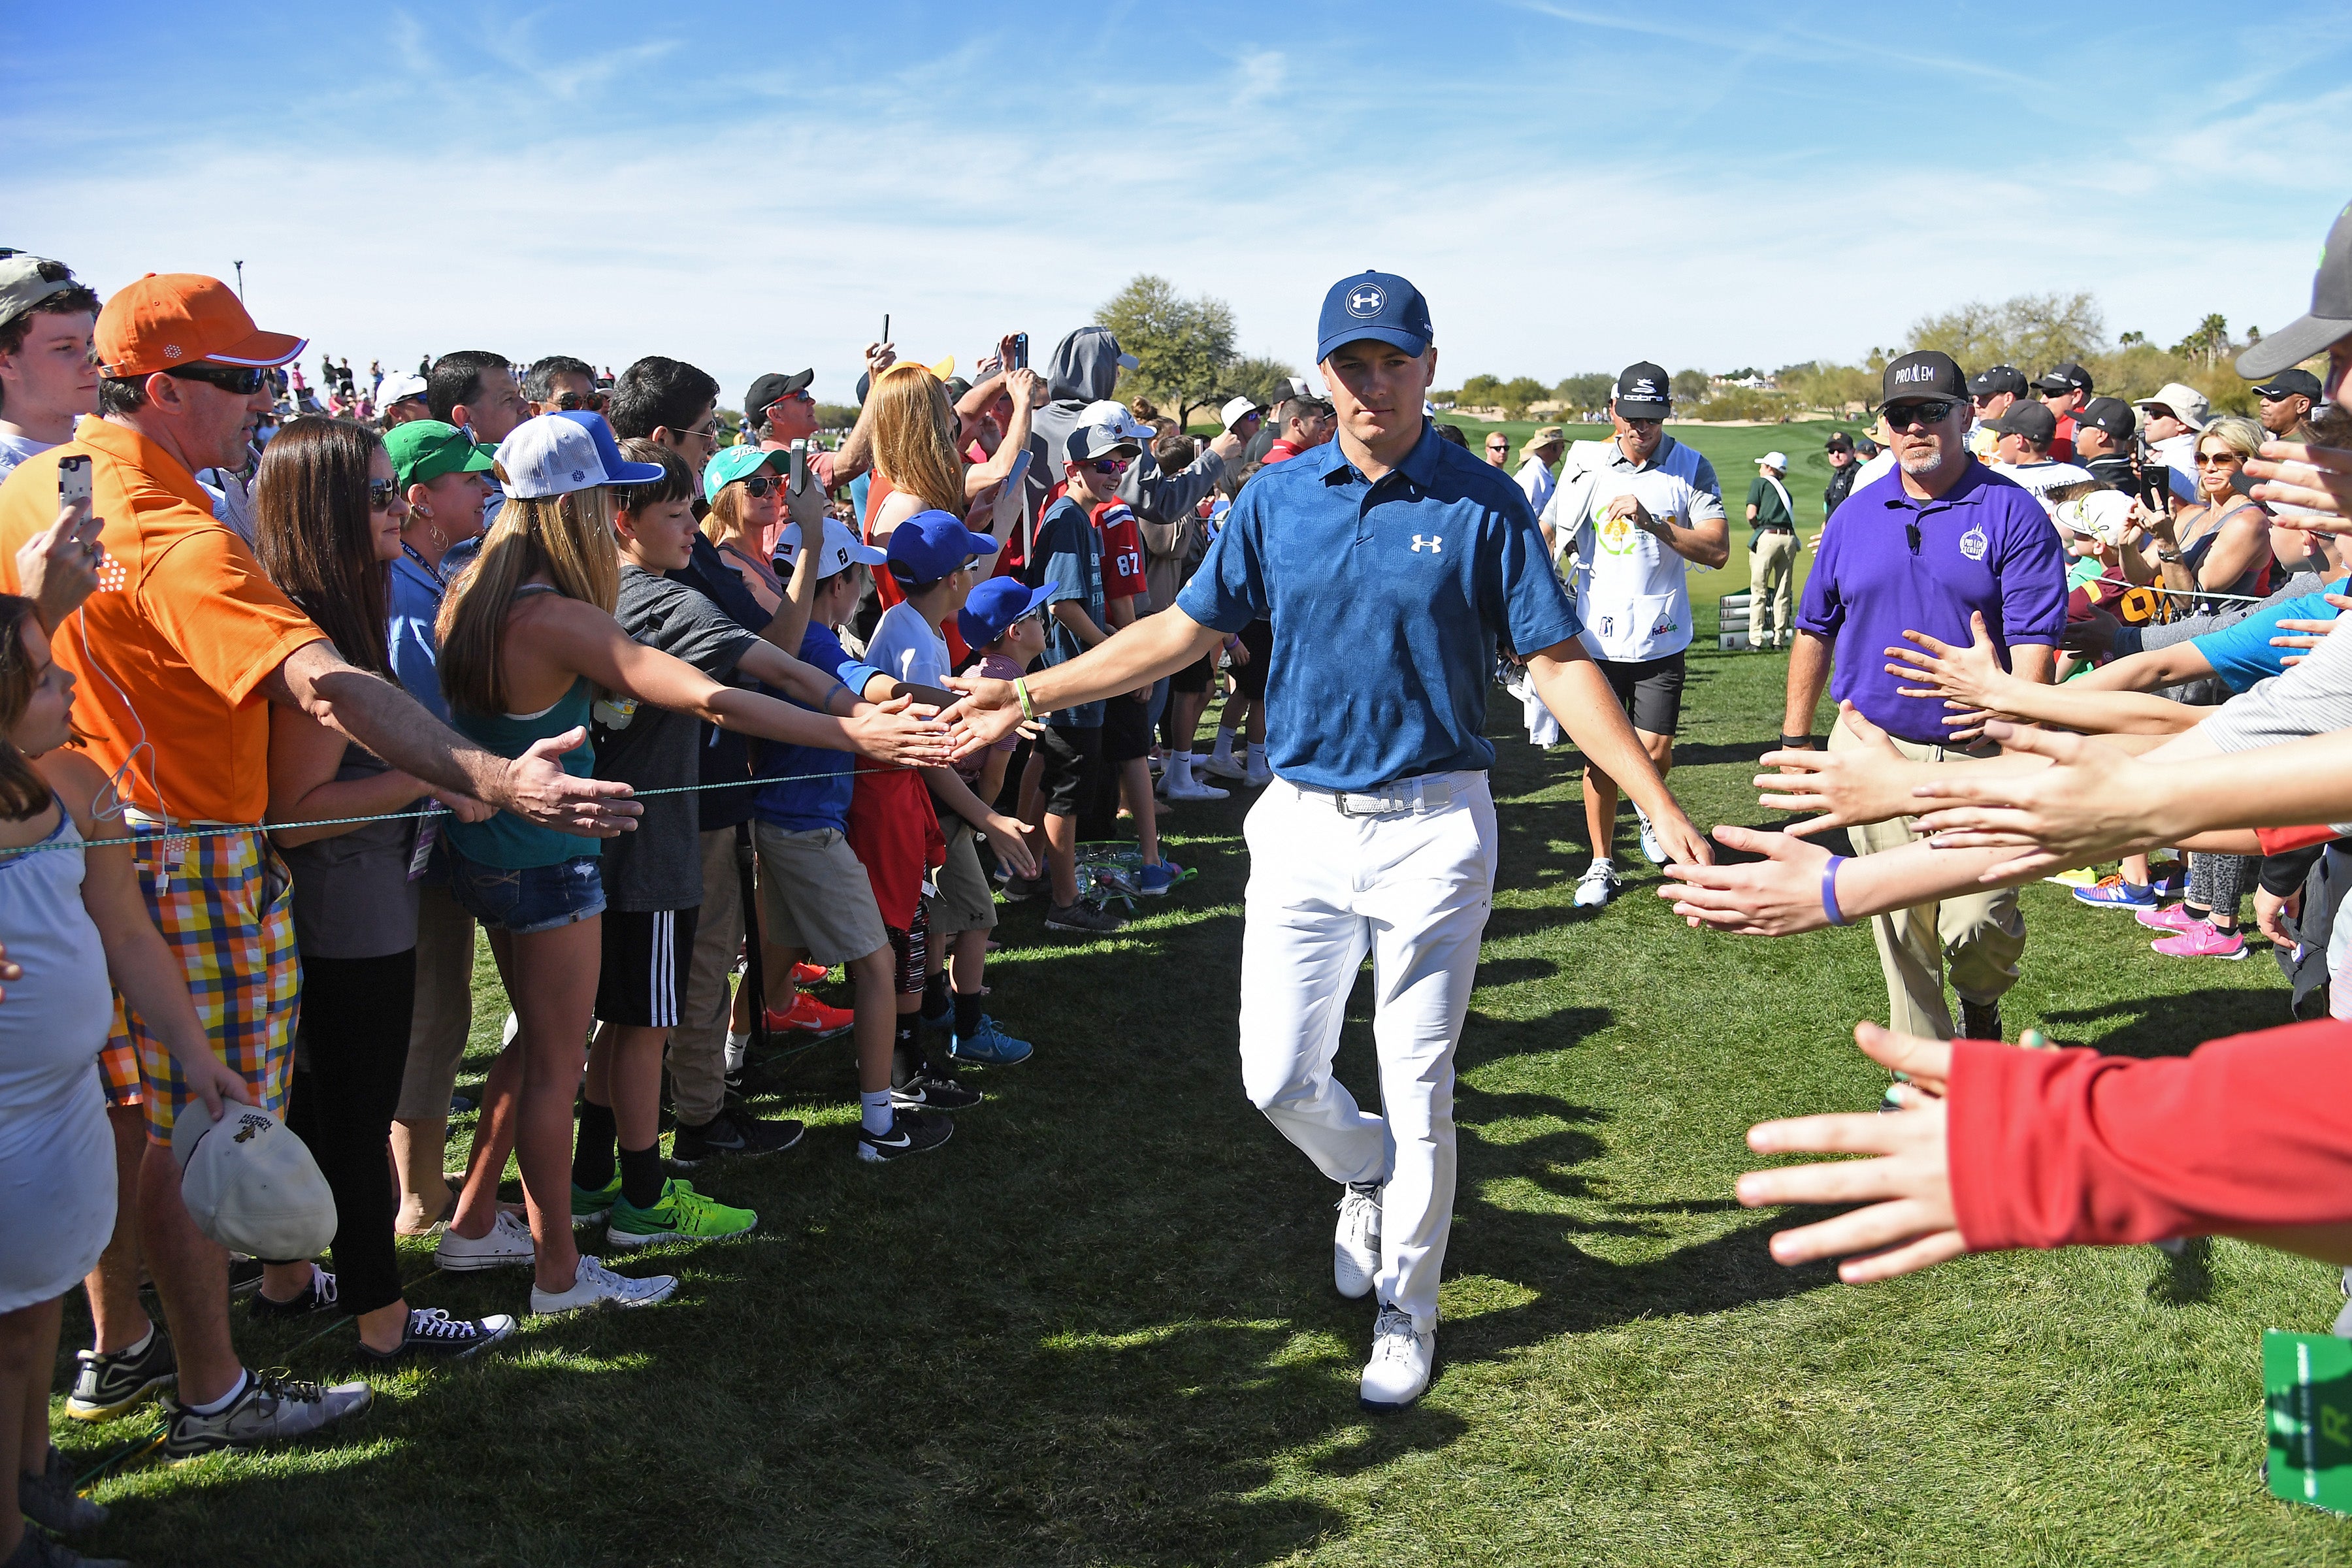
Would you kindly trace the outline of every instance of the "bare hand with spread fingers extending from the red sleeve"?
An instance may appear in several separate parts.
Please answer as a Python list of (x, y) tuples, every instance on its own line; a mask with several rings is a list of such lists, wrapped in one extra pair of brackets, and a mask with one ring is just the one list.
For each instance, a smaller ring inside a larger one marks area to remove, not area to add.
[(1945, 1140), (1943, 1086), (1952, 1046), (1917, 1034), (1891, 1034), (1875, 1023), (1853, 1027), (1858, 1044), (1882, 1067), (1907, 1072), (1898, 1084), (1903, 1110), (1844, 1117), (1795, 1117), (1748, 1128), (1757, 1154), (1872, 1154), (1830, 1164), (1750, 1171), (1738, 1199), (1750, 1208), (1776, 1204), (1865, 1204), (1771, 1239), (1780, 1262), (1844, 1258), (1846, 1284), (1893, 1279), (1969, 1251), (1952, 1215), (1952, 1173)]

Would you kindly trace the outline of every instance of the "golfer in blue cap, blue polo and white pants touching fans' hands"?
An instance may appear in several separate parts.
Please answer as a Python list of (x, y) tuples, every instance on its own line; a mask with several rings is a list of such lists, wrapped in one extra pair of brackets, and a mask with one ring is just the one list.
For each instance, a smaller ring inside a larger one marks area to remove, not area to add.
[[(1454, 1218), (1454, 1041), (1494, 903), (1484, 738), (1496, 637), (1583, 752), (1658, 823), (1675, 860), (1708, 849), (1592, 665), (1510, 475), (1437, 440), (1430, 313), (1392, 273), (1324, 296), (1317, 360), (1338, 437), (1261, 470), (1176, 607), (1065, 665), (955, 679), (964, 745), (1023, 715), (1134, 691), (1258, 616), (1275, 625), (1275, 780), (1249, 811), (1242, 1084), (1343, 1182), (1331, 1274), (1378, 1293), (1362, 1401), (1411, 1403), (1437, 1352)], [(1348, 990), (1374, 959), (1385, 1117), (1331, 1081)]]

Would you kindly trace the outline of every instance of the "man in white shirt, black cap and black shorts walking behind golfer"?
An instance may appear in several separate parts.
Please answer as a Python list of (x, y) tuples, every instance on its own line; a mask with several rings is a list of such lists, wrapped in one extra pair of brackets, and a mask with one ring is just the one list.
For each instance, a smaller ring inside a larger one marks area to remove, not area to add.
[[(1715, 465), (1665, 433), (1672, 402), (1665, 369), (1628, 364), (1609, 400), (1611, 442), (1576, 442), (1559, 489), (1543, 508), (1543, 534), (1569, 557), (1585, 651), (1609, 677), (1616, 701), (1663, 778), (1675, 766), (1682, 719), (1682, 658), (1691, 646), (1689, 571), (1731, 559), (1731, 524)], [(1576, 905), (1597, 910), (1616, 898), (1618, 785), (1585, 764), (1585, 830), (1592, 865), (1576, 884)], [(1649, 813), (1642, 853), (1665, 865), (1668, 851)]]

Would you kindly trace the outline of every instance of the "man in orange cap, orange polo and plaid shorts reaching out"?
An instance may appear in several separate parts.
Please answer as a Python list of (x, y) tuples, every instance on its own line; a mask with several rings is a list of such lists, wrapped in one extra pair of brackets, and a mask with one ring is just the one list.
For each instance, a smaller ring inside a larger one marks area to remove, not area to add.
[[(214, 1051), (263, 1110), (278, 1112), (294, 1058), (299, 966), (287, 870), (259, 827), (270, 703), (301, 708), (466, 799), (468, 813), (485, 813), (477, 802), (487, 802), (604, 837), (640, 806), (612, 799), (626, 795), (621, 785), (562, 771), (550, 752), (586, 736), (510, 762), (433, 719), (400, 686), (346, 665), (261, 576), (245, 541), (212, 517), (195, 470), (242, 461), (270, 407), (266, 369), (299, 355), (301, 339), (259, 331), (214, 277), (151, 273), (106, 301), (94, 343), (99, 416), (0, 484), (0, 588), (19, 588), (16, 548), (56, 520), (59, 463), (89, 458), (92, 512), (103, 520), (99, 590), (59, 628), (56, 663), (78, 679), (78, 726), (89, 755), (115, 773), (148, 910), (181, 954)], [(148, 1107), (141, 1248), (179, 1378), (165, 1450), (247, 1448), (362, 1408), (362, 1382), (327, 1389), (256, 1378), (238, 1361), (228, 1253), (188, 1218), (169, 1150), (193, 1093), (136, 1016), (132, 1034)], [(327, 1307), (334, 1284), (308, 1260), (287, 1260), (261, 1288), (287, 1305)]]

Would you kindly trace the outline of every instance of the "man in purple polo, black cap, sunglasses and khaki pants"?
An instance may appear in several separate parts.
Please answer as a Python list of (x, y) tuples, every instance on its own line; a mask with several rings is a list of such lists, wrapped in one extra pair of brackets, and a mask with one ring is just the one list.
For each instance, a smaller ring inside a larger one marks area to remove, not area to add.
[[(1813, 745), (1813, 708), (1828, 684), (1830, 696), (1853, 703), (1905, 757), (1990, 755), (1999, 748), (1945, 748), (1943, 701), (1903, 696), (1903, 679), (1886, 672), (1886, 649), (1903, 646), (1903, 632), (1966, 646), (1969, 618), (1980, 614), (2004, 668), (2051, 679), (2065, 630), (2065, 550), (2032, 494), (1969, 456), (1969, 381), (1950, 355), (1912, 353), (1889, 364), (1882, 411), (1896, 465), (1858, 487), (1820, 534), (1797, 609), (1780, 745)], [(1830, 750), (1851, 745), (1865, 741), (1832, 724)], [(1907, 816), (1849, 835), (1863, 856), (1919, 837)], [(1955, 1037), (1943, 999), (1950, 964), (1957, 1034), (2002, 1039), (1999, 1001), (2018, 983), (2025, 952), (2013, 889), (1962, 893), (1870, 924), (1886, 971), (1889, 1027)]]

